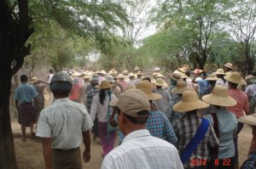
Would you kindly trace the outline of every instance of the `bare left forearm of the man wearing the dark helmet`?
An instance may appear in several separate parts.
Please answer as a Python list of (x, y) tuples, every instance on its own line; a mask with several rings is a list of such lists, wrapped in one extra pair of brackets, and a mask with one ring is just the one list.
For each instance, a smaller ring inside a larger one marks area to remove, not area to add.
[(43, 138), (42, 143), (45, 169), (51, 169), (51, 138)]

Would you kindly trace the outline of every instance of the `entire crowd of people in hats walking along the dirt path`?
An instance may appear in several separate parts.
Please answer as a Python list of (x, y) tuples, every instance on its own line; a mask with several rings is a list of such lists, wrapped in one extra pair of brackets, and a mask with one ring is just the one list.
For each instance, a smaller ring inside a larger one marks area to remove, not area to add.
[[(119, 74), (49, 70), (45, 82), (33, 77), (30, 85), (26, 75), (20, 82), (15, 104), (22, 141), (26, 127), (42, 138), (47, 169), (82, 168), (80, 159), (90, 161), (90, 132), (102, 144), (103, 169), (232, 169), (239, 162), (256, 168), (256, 76), (243, 79), (230, 63), (214, 72), (183, 65), (166, 76), (160, 68), (152, 76), (139, 67)], [(46, 108), (44, 88), (52, 100)], [(253, 128), (253, 140), (247, 161), (239, 161), (244, 124)]]

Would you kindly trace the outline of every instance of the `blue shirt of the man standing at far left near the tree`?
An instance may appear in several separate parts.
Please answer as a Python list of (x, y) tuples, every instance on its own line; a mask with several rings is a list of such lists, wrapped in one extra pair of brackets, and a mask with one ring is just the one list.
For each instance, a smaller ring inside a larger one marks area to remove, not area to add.
[(20, 104), (32, 102), (37, 96), (38, 92), (36, 88), (27, 83), (22, 83), (20, 87), (15, 90), (15, 101), (19, 101)]

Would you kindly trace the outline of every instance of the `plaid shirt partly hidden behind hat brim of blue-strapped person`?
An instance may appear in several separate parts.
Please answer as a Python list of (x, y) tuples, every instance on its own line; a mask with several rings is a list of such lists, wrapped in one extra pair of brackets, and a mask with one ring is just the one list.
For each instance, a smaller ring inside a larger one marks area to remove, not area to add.
[(179, 102), (181, 100), (182, 100), (182, 97), (177, 95), (177, 97), (172, 98), (169, 102), (169, 108), (166, 111), (166, 115), (172, 125), (174, 124), (175, 121), (177, 121), (184, 115), (184, 113), (177, 112), (177, 111), (173, 110), (173, 105), (177, 104), (177, 102)]

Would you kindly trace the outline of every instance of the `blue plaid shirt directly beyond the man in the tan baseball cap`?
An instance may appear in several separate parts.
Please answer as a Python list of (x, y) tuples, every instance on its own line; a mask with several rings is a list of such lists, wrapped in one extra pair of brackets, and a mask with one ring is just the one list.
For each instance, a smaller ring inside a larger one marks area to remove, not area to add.
[(160, 111), (150, 110), (146, 126), (152, 136), (165, 139), (174, 145), (177, 144), (177, 137), (170, 121)]

